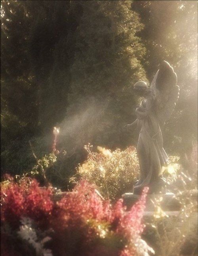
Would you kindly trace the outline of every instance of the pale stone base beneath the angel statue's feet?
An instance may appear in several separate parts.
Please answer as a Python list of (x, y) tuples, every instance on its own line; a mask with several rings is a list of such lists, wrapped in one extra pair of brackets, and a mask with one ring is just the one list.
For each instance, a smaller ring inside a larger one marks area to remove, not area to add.
[[(124, 206), (129, 210), (135, 202), (140, 198), (139, 194), (125, 193), (122, 195), (124, 200)], [(175, 198), (175, 194), (167, 192), (165, 194), (148, 194), (146, 200), (145, 211), (154, 211), (155, 206), (152, 202), (156, 202), (156, 199), (160, 200), (160, 206), (163, 211), (179, 211), (180, 204)]]

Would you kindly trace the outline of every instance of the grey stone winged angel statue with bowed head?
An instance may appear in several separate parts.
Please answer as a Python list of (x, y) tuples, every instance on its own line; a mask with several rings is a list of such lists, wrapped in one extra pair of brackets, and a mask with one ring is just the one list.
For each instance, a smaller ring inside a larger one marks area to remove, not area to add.
[(165, 60), (150, 85), (139, 81), (134, 91), (144, 99), (136, 109), (139, 138), (137, 155), (139, 158), (140, 178), (133, 186), (133, 193), (140, 194), (143, 187), (149, 187), (149, 193), (159, 193), (166, 189), (166, 179), (162, 173), (168, 166), (168, 156), (163, 148), (161, 128), (171, 116), (179, 97), (177, 75)]

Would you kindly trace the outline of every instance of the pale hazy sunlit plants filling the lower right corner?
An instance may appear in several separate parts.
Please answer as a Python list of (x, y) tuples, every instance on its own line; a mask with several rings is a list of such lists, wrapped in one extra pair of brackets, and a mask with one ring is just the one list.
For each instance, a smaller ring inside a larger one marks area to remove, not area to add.
[[(171, 158), (172, 166), (177, 167), (175, 160)], [(145, 219), (143, 237), (157, 255), (197, 255), (197, 145), (194, 144), (187, 160), (189, 170), (183, 170), (181, 167), (176, 181), (173, 182), (172, 192), (179, 202), (180, 209), (172, 214), (165, 213), (161, 209), (161, 196), (156, 196), (156, 213)]]

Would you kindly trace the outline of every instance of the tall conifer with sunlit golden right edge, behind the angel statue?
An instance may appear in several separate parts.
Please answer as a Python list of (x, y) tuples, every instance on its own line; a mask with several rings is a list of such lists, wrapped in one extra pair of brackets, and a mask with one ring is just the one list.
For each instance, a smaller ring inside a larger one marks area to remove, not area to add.
[[(122, 127), (134, 120), (133, 84), (146, 80), (145, 54), (136, 33), (143, 29), (131, 1), (81, 1), (75, 32), (66, 131), (78, 145), (107, 147), (128, 143)], [(125, 134), (126, 135), (126, 134)]]

